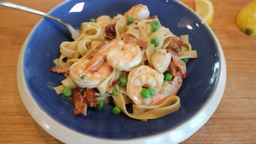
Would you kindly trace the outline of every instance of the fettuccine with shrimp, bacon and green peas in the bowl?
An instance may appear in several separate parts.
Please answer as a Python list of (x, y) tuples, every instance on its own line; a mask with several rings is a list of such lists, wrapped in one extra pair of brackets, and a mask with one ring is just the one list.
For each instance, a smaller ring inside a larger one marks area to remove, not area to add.
[(111, 101), (114, 115), (142, 121), (180, 108), (176, 94), (188, 76), (186, 62), (197, 52), (188, 35), (175, 36), (149, 14), (138, 4), (114, 18), (102, 15), (83, 22), (78, 39), (60, 44), (50, 71), (66, 76), (54, 90), (72, 99), (74, 115), (86, 115), (90, 107), (102, 110)]

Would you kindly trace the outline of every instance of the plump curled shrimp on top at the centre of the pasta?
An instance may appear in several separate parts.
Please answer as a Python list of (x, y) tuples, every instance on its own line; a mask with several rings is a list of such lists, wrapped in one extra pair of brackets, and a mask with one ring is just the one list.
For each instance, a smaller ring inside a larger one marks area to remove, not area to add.
[(108, 65), (118, 70), (131, 71), (141, 59), (140, 46), (124, 41), (117, 41), (107, 53)]

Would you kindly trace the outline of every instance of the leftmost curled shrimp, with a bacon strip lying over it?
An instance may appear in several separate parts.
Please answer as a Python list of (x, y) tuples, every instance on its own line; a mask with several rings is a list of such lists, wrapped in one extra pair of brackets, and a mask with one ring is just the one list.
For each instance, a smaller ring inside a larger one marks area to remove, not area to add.
[(86, 70), (89, 59), (79, 60), (70, 66), (70, 76), (79, 87), (94, 88), (104, 81), (113, 71), (113, 68), (104, 60), (96, 71)]

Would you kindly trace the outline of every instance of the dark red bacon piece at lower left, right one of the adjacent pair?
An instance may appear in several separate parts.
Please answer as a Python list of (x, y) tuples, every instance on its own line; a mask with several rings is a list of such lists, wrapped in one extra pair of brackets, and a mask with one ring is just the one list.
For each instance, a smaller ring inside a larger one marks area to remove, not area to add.
[(86, 88), (84, 92), (84, 101), (87, 103), (87, 106), (97, 108), (100, 103), (95, 101), (94, 90)]

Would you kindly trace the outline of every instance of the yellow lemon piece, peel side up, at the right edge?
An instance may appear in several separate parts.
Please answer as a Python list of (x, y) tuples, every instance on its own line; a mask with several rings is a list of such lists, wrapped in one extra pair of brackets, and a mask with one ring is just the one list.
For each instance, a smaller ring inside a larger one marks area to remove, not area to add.
[(256, 1), (250, 2), (239, 11), (236, 25), (247, 35), (256, 37)]

